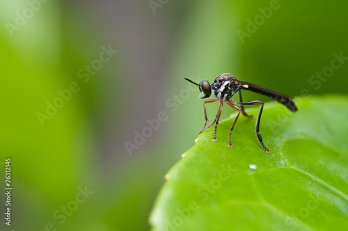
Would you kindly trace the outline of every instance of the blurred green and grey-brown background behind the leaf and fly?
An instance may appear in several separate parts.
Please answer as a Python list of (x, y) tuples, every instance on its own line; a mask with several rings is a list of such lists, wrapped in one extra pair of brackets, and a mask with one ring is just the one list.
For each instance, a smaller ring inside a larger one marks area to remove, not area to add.
[[(204, 122), (184, 78), (228, 72), (290, 96), (347, 94), (347, 10), (343, 0), (1, 0), (0, 185), (10, 157), (13, 191), (10, 228), (0, 194), (0, 229), (149, 230), (164, 174)], [(269, 100), (244, 94), (255, 99)], [(166, 120), (141, 140), (159, 112)]]

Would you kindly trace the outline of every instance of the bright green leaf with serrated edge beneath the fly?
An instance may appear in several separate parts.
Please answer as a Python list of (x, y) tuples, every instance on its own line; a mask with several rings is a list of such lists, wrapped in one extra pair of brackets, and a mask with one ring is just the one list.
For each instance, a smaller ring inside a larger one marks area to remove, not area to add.
[(217, 142), (214, 128), (199, 135), (166, 175), (152, 230), (347, 230), (348, 98), (309, 98), (296, 99), (295, 113), (265, 104), (260, 134), (269, 154), (255, 119), (243, 116), (228, 147), (236, 113), (219, 123)]

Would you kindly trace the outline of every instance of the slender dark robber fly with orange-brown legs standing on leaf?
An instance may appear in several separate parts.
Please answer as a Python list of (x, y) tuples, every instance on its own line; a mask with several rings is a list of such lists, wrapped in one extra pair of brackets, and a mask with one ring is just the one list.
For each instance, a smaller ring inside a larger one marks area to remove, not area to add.
[[(235, 76), (232, 76), (231, 74), (228, 74), (228, 73), (219, 74), (219, 76), (216, 76), (214, 83), (212, 83), (212, 85), (210, 85), (210, 83), (208, 81), (205, 81), (205, 80), (201, 81), (199, 84), (194, 83), (192, 80), (189, 80), (187, 78), (185, 78), (185, 80), (188, 80), (190, 83), (193, 83), (199, 87), (200, 92), (201, 92), (200, 99), (208, 98), (211, 94), (213, 94), (215, 96), (215, 99), (208, 99), (207, 101), (204, 101), (204, 103), (203, 103), (204, 114), (205, 114), (205, 123), (204, 123), (203, 129), (198, 133), (198, 135), (200, 135), (200, 133), (202, 133), (205, 130), (205, 127), (207, 126), (208, 118), (207, 118), (207, 111), (205, 110), (205, 104), (219, 101), (219, 109), (218, 109), (218, 112), (216, 114), (216, 117), (215, 117), (214, 121), (212, 122), (212, 124), (210, 124), (210, 126), (208, 127), (208, 128), (210, 128), (215, 123), (214, 137), (213, 137), (212, 141), (216, 141), (216, 129), (217, 129), (217, 126), (219, 123), (223, 103), (227, 103), (232, 108), (235, 108), (235, 110), (238, 110), (238, 114), (237, 114), (237, 117), (235, 119), (235, 122), (232, 124), (232, 127), (230, 128), (230, 133), (228, 134), (228, 143), (229, 143), (228, 146), (230, 146), (230, 147), (232, 147), (231, 132), (232, 132), (233, 128), (235, 127), (235, 124), (237, 122), (239, 114), (242, 112), (242, 114), (246, 117), (253, 117), (253, 116), (246, 114), (246, 112), (244, 111), (244, 105), (259, 105), (260, 104), (261, 109), (260, 109), (260, 112), (258, 114), (258, 119), (256, 120), (255, 133), (256, 133), (256, 136), (258, 137), (258, 141), (260, 142), (262, 148), (264, 148), (264, 150), (266, 150), (267, 153), (271, 152), (271, 151), (269, 151), (268, 148), (266, 148), (266, 146), (264, 146), (264, 144), (262, 142), (262, 137), (259, 133), (260, 118), (261, 118), (262, 109), (263, 109), (264, 104), (262, 101), (243, 102), (242, 101), (242, 94), (239, 91), (240, 89), (245, 89), (245, 90), (255, 92), (258, 94), (263, 94), (264, 96), (269, 96), (269, 98), (274, 99), (274, 100), (278, 101), (279, 103), (282, 103), (283, 105), (285, 105), (290, 111), (292, 111), (292, 112), (297, 111), (296, 105), (295, 105), (294, 101), (292, 101), (292, 98), (290, 96), (287, 96), (285, 94), (281, 94), (278, 92), (274, 92), (271, 89), (267, 89), (265, 87), (255, 85), (253, 83), (247, 83), (247, 82), (244, 82), (241, 80), (237, 80), (237, 78), (235, 78)], [(237, 92), (239, 92), (239, 102), (232, 102), (231, 98)], [(240, 107), (238, 107), (237, 105), (240, 105)]]

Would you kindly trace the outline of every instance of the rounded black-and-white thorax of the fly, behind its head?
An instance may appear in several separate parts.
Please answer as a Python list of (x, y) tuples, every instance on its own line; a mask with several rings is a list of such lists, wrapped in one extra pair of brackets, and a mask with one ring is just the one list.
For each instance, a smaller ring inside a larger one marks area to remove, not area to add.
[(235, 80), (235, 76), (227, 73), (216, 76), (212, 83), (212, 91), (216, 99), (231, 101), (232, 96), (237, 92)]

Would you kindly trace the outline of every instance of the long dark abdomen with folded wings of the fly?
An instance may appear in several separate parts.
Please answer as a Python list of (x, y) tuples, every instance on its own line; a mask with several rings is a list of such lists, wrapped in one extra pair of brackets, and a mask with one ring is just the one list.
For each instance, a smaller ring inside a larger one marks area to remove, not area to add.
[(251, 92), (263, 94), (264, 96), (269, 96), (269, 98), (275, 99), (279, 103), (282, 103), (283, 105), (285, 105), (290, 111), (292, 112), (297, 111), (296, 105), (290, 96), (281, 94), (279, 92), (274, 92), (271, 89), (267, 89), (266, 87), (255, 85), (253, 83), (244, 82), (241, 80), (235, 80), (235, 84), (239, 89), (246, 89)]

